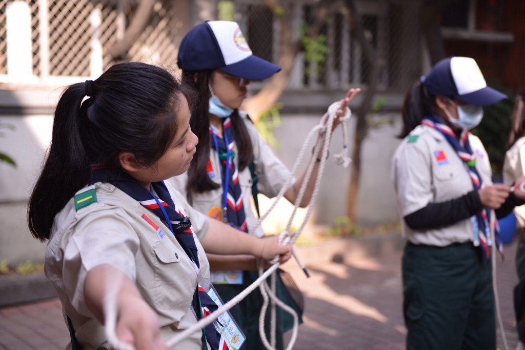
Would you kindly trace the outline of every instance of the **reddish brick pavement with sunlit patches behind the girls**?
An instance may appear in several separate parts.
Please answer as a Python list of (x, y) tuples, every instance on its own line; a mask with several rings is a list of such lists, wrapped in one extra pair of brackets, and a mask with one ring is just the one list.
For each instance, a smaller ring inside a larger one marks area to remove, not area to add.
[[(516, 283), (513, 254), (498, 259), (497, 283), (509, 349), (516, 348), (512, 288)], [(401, 313), (401, 252), (346, 258), (343, 264), (309, 263), (310, 279), (296, 264), (283, 268), (292, 274), (306, 297), (304, 324), (295, 349), (401, 350), (405, 327)], [(287, 338), (291, 332), (287, 333)], [(51, 350), (69, 341), (60, 303), (53, 299), (0, 308), (0, 350)], [(498, 344), (502, 347), (501, 338)]]

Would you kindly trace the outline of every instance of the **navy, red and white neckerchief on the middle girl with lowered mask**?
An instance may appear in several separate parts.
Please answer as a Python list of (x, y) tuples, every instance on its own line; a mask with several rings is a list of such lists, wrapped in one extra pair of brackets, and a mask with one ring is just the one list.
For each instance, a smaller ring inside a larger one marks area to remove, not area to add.
[[(244, 212), (243, 191), (239, 184), (239, 172), (233, 162), (235, 157), (235, 133), (232, 127), (232, 120), (229, 117), (224, 120), (224, 138), (218, 136), (211, 126), (209, 127), (209, 133), (213, 141), (212, 147), (215, 146), (222, 170), (223, 221), (240, 231), (248, 232), (246, 214)], [(208, 160), (208, 168), (213, 169), (211, 155)]]

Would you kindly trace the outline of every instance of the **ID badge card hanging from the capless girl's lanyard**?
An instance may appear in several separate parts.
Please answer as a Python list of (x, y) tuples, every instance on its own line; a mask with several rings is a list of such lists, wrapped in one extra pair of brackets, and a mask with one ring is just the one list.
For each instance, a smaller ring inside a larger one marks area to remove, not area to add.
[[(220, 310), (224, 303), (213, 287), (212, 283), (208, 282), (206, 285), (204, 285), (204, 290), (212, 298), (215, 304), (217, 304), (218, 310)], [(228, 346), (229, 350), (238, 350), (240, 346), (246, 341), (243, 331), (240, 330), (229, 311), (220, 315), (213, 325), (215, 326), (217, 332), (223, 336), (224, 342)]]

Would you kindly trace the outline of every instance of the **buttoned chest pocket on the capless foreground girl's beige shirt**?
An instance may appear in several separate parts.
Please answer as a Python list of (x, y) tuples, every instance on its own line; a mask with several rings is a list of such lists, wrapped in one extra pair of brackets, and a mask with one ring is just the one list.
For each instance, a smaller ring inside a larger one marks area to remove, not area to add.
[(153, 245), (153, 254), (157, 306), (171, 310), (189, 305), (195, 291), (197, 276), (186, 253), (162, 240)]

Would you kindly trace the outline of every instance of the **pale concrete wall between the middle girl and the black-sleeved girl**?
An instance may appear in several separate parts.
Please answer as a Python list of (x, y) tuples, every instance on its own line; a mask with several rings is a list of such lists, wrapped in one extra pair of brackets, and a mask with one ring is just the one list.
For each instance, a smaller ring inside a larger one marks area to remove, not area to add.
[[(275, 130), (275, 137), (281, 148), (276, 150), (279, 158), (291, 168), (308, 132), (319, 122), (319, 116), (285, 115), (283, 125)], [(400, 130), (396, 114), (388, 114), (381, 119), (392, 118), (395, 123), (372, 128), (363, 143), (362, 173), (359, 191), (357, 221), (361, 225), (377, 225), (398, 221), (395, 194), (390, 180), (390, 160), (400, 140), (395, 138)], [(347, 123), (349, 135), (349, 155), (352, 152), (355, 119)], [(323, 173), (314, 212), (314, 222), (330, 225), (334, 219), (345, 215), (346, 192), (350, 182), (350, 167), (337, 166), (332, 155), (342, 149), (341, 129), (336, 129), (330, 146), (330, 158)], [(307, 156), (311, 155), (313, 144), (307, 147)], [(306, 167), (306, 162), (299, 169)]]

